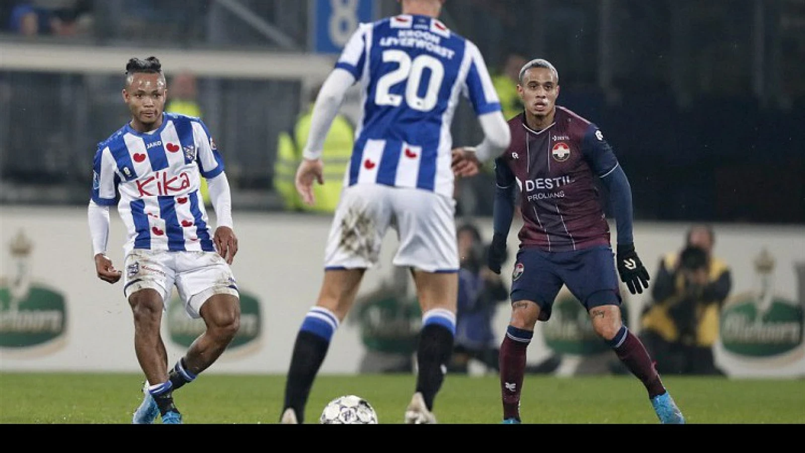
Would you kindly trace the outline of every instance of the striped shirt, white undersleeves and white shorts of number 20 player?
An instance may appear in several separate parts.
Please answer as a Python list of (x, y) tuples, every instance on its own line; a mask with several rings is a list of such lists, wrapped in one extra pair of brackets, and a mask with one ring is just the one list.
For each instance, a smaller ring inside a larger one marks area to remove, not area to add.
[[(469, 98), (487, 136), (477, 148), (479, 158), (502, 149), (510, 135), (505, 120), (500, 121), (502, 114), (498, 116), (500, 102), (478, 48), (436, 18), (397, 15), (361, 24), (328, 82), (319, 94), (319, 113), (328, 106), (337, 109), (327, 103), (328, 98), (340, 99), (349, 86), (358, 83), (361, 118), (325, 267), (371, 266), (386, 228), (392, 225), (402, 242), (394, 264), (456, 272), (450, 127), (459, 97)], [(316, 128), (316, 116), (313, 121), (306, 159), (320, 156), (324, 139), (320, 131), (326, 131)], [(353, 189), (359, 185), (361, 189)], [(413, 190), (386, 190), (390, 188)], [(375, 195), (378, 191), (383, 194)], [(369, 212), (362, 201), (365, 197), (372, 198), (369, 205), (378, 206), (369, 214), (372, 228), (368, 229), (369, 221), (349, 217), (357, 211)], [(397, 211), (409, 215), (397, 218)], [(345, 226), (363, 230), (349, 235)]]

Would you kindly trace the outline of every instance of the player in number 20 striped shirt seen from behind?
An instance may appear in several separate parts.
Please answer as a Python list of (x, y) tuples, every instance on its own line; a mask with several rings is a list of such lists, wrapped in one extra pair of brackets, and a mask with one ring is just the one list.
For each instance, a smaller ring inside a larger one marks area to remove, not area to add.
[[(459, 256), (450, 127), (459, 97), (472, 103), (484, 131), (479, 160), (499, 155), (510, 141), (481, 53), (436, 19), (443, 2), (401, 0), (401, 15), (361, 24), (316, 98), (296, 172), (296, 187), (308, 203), (313, 181), (321, 181), (321, 150), (332, 118), (356, 83), (361, 118), (324, 252), (324, 284), (291, 356), (283, 423), (303, 422), (332, 335), (353, 305), (365, 269), (378, 262), (389, 228), (399, 239), (392, 263), (411, 269), (422, 311), (415, 393), (403, 420), (436, 422), (433, 401), (456, 334)], [(456, 150), (458, 161), (466, 161), (464, 152)]]

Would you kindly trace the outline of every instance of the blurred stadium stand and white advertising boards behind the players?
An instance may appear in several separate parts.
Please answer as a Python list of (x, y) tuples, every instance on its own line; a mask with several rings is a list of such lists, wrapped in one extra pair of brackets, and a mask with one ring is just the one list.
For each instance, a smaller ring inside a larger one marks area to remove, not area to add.
[[(396, 14), (398, 2), (43, 0), (86, 9), (74, 34), (35, 36), (6, 27), (17, 3), (0, 2), (0, 370), (138, 371), (122, 288), (94, 275), (85, 210), (95, 145), (129, 118), (126, 61), (154, 55), (169, 80), (183, 70), (198, 77), (232, 185), (245, 316), (238, 344), (210, 372), (284, 372), (320, 284), (329, 216), (283, 210), (278, 136), (354, 26)], [(448, 0), (441, 19), (473, 39), (493, 71), (510, 52), (555, 64), (558, 104), (601, 127), (630, 178), (650, 272), (692, 222), (712, 223), (733, 295), (752, 297), (766, 283), (775, 303), (803, 313), (805, 2)], [(344, 113), (355, 118), (357, 93)], [(481, 139), (465, 103), (453, 132), (456, 145)], [(492, 199), (485, 176), (464, 183), (457, 199), (461, 220), (473, 219), (487, 239)], [(113, 213), (118, 266), (122, 239)], [(361, 294), (393, 278), (394, 240)], [(755, 265), (764, 251), (770, 275)], [(646, 301), (628, 298), (633, 324)], [(507, 312), (502, 305), (501, 334)], [(196, 327), (170, 321), (169, 351), (180, 354)], [(766, 353), (720, 344), (721, 364), (734, 376), (805, 376), (803, 319), (783, 321), (799, 326), (797, 341)], [(358, 326), (345, 322), (322, 370), (357, 372), (363, 351)], [(538, 338), (529, 358), (550, 353)]]

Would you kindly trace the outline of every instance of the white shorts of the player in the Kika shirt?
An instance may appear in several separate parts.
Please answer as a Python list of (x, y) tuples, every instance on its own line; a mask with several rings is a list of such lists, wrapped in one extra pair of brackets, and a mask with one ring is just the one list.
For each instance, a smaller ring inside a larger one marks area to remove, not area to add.
[(138, 289), (156, 289), (167, 310), (173, 287), (184, 311), (200, 318), (201, 305), (213, 294), (237, 293), (229, 264), (215, 251), (163, 251), (135, 248), (126, 256), (123, 293), (126, 299)]

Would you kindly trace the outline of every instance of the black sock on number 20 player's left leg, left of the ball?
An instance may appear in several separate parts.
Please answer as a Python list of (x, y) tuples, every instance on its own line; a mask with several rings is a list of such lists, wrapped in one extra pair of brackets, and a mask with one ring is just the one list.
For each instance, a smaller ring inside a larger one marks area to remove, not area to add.
[(299, 330), (299, 334), (296, 335), (291, 367), (285, 383), (283, 410), (289, 407), (294, 409), (299, 423), (303, 423), (304, 407), (308, 403), (313, 380), (316, 379), (329, 346), (330, 342), (327, 339), (307, 330)]

